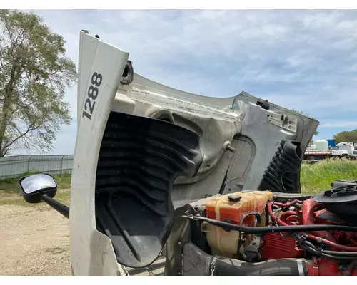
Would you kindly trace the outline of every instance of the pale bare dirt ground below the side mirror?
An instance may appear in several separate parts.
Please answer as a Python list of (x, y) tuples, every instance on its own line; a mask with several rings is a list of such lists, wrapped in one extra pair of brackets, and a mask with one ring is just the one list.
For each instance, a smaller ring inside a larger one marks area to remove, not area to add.
[[(0, 192), (0, 276), (71, 276), (69, 220), (46, 204)], [(16, 204), (17, 203), (17, 204)], [(131, 276), (162, 276), (164, 258)]]

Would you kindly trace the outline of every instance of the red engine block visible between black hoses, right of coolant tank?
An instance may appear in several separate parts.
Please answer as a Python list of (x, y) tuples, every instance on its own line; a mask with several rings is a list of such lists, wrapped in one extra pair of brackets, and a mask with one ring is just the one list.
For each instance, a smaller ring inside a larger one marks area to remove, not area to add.
[[(308, 199), (301, 209), (284, 212), (280, 220), (286, 224), (343, 224), (336, 215), (321, 208), (321, 205)], [(349, 232), (313, 232), (318, 238), (328, 239), (331, 244), (357, 247), (357, 233)], [(331, 247), (331, 250), (341, 250)], [(263, 259), (306, 258), (306, 252), (288, 233), (266, 234), (261, 242), (260, 254)], [(313, 257), (308, 261), (309, 276), (357, 276), (356, 266), (341, 265), (337, 259)]]

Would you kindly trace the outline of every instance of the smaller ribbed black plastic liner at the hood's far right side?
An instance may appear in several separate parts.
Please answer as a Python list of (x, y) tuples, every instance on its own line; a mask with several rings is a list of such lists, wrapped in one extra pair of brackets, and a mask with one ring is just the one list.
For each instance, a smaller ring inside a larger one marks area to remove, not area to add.
[(259, 189), (271, 192), (301, 193), (301, 156), (299, 142), (282, 140), (263, 175)]

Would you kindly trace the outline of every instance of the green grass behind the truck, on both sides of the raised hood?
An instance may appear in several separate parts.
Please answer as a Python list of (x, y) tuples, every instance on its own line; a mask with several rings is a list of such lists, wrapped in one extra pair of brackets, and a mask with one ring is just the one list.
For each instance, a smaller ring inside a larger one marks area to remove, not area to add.
[[(24, 174), (28, 175), (28, 174)], [(24, 175), (21, 175), (23, 177)], [(20, 196), (19, 178), (0, 180), (0, 205), (18, 204), (34, 207), (36, 204), (27, 204)], [(54, 175), (59, 190), (56, 199), (69, 205), (71, 175)], [(303, 193), (316, 193), (331, 188), (335, 180), (357, 180), (357, 162), (349, 160), (324, 160), (315, 164), (303, 164), (301, 167), (301, 190)], [(48, 207), (50, 209), (50, 207)]]

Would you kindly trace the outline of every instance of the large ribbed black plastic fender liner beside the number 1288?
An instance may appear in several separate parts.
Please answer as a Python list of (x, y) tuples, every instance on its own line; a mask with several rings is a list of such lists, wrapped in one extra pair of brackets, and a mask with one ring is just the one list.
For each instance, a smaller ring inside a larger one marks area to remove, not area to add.
[(196, 175), (199, 135), (164, 120), (111, 112), (96, 170), (96, 227), (120, 264), (150, 265), (174, 224), (176, 177)]

